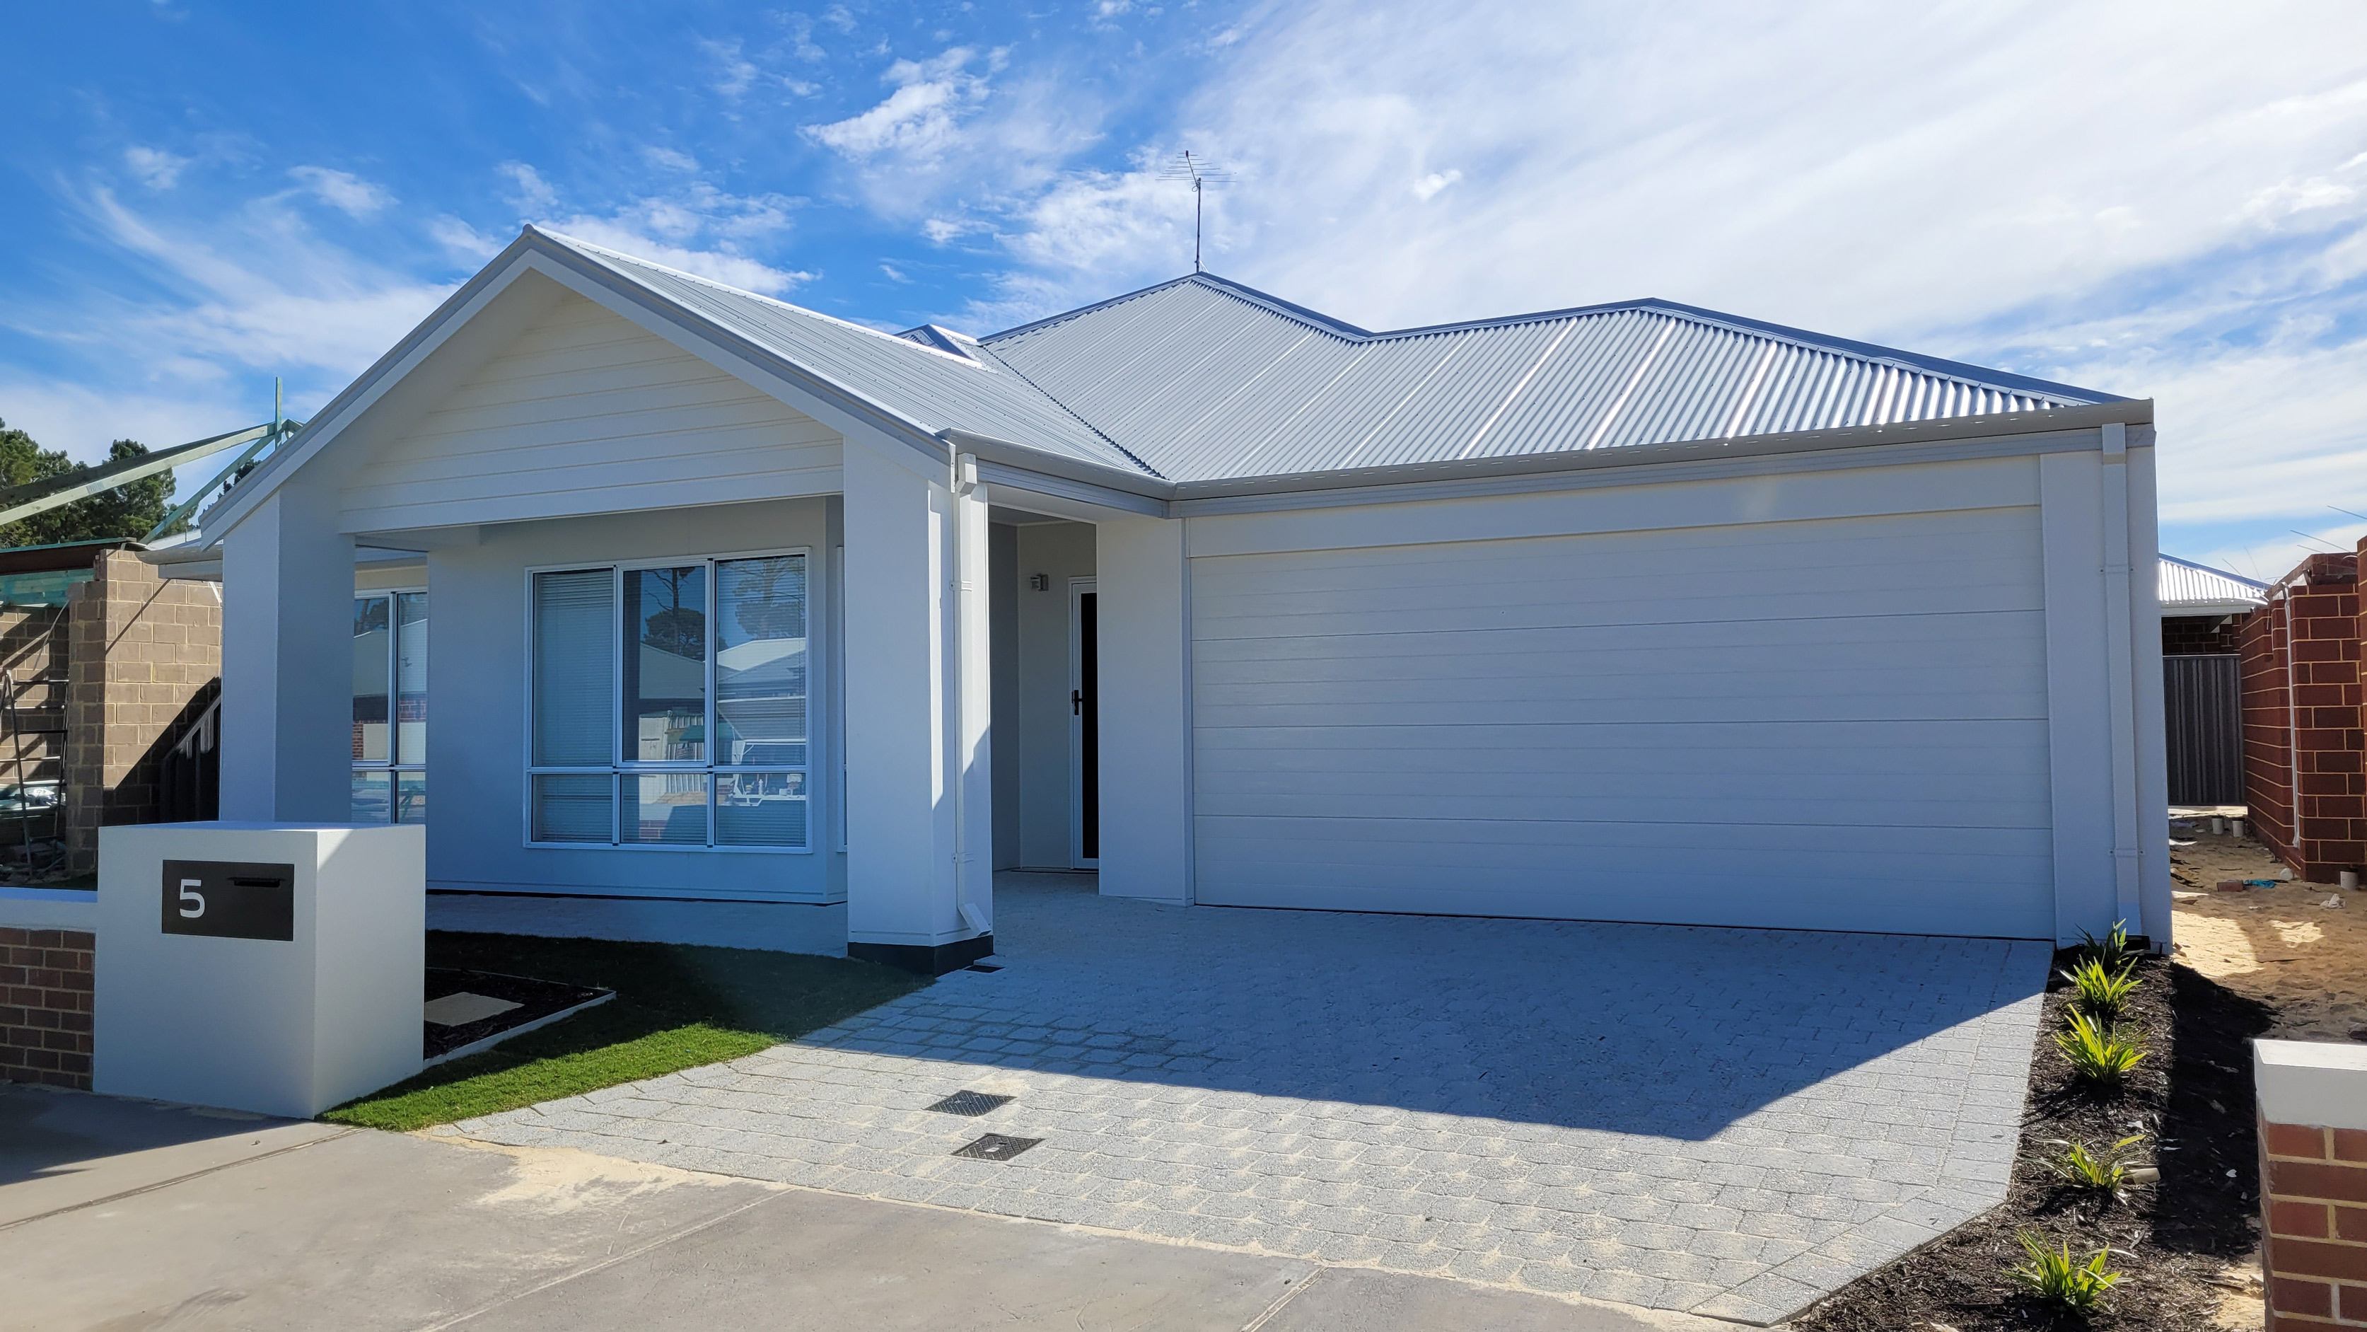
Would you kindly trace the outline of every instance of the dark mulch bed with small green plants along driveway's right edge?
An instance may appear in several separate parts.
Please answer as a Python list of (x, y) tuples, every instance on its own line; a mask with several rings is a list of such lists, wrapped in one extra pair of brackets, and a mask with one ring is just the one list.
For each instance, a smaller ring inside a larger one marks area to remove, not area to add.
[[(2069, 965), (2059, 953), (2057, 965)], [(2218, 1332), (2227, 1263), (2258, 1244), (2258, 1157), (2251, 1107), (2251, 1036), (2268, 1032), (2272, 1010), (2178, 963), (2147, 958), (2145, 984), (2128, 1022), (2142, 1027), (2152, 1055), (2118, 1095), (2095, 1095), (2071, 1079), (2055, 1050), (2069, 987), (2047, 989), (2047, 1015), (2031, 1067), (2031, 1103), (2021, 1119), (2014, 1183), (1988, 1216), (1868, 1273), (1799, 1318), (1815, 1332), (1905, 1332), (1931, 1325), (1958, 1332), (2092, 1327), (2147, 1332)], [(2047, 1173), (2038, 1155), (2050, 1138), (2102, 1147), (2149, 1133), (2161, 1185), (2128, 1202), (2076, 1190)], [(2047, 1244), (2069, 1240), (2076, 1256), (2111, 1247), (2126, 1273), (2109, 1308), (2078, 1318), (2024, 1297), (2007, 1268), (2021, 1261), (2017, 1230)]]

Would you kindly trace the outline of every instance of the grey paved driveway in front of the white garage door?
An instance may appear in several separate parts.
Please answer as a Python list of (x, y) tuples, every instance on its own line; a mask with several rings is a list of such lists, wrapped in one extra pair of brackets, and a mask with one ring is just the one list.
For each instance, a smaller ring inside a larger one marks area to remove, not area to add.
[(1001, 875), (1004, 970), (447, 1133), (1742, 1323), (2005, 1195), (2043, 944), (1089, 885)]

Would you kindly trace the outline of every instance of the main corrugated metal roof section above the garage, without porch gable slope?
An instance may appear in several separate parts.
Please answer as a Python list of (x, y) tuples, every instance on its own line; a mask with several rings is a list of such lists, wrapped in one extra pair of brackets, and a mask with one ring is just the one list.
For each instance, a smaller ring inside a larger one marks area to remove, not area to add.
[(980, 348), (1172, 480), (2118, 400), (1669, 300), (1370, 334), (1210, 274)]

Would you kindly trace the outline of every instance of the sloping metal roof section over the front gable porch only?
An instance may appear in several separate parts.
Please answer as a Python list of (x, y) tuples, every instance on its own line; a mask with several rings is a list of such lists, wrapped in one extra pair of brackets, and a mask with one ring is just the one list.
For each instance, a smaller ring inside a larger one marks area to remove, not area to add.
[(589, 241), (542, 234), (928, 433), (970, 431), (1143, 473), (1139, 459), (1127, 457), (1075, 412), (1027, 383), (1020, 371), (966, 355), (961, 348), (966, 338), (952, 336), (937, 345), (935, 338), (881, 334)]

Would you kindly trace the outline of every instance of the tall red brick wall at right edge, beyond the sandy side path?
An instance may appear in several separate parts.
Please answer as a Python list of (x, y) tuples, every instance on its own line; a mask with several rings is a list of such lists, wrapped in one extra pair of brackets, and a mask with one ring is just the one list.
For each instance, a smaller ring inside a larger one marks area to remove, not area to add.
[(2367, 864), (2358, 565), (2310, 556), (2244, 622), (2244, 802), (2260, 840), (2315, 882)]

